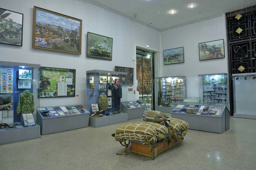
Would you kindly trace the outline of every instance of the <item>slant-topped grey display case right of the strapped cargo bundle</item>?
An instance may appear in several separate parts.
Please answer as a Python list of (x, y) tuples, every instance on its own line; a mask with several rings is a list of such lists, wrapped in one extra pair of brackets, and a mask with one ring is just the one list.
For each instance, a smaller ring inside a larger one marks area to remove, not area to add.
[(188, 122), (189, 129), (223, 133), (230, 128), (230, 112), (225, 105), (185, 103), (176, 105), (171, 113), (172, 118)]

